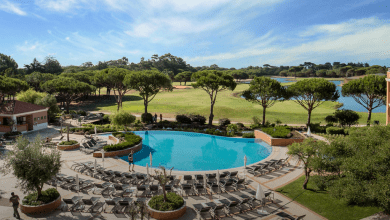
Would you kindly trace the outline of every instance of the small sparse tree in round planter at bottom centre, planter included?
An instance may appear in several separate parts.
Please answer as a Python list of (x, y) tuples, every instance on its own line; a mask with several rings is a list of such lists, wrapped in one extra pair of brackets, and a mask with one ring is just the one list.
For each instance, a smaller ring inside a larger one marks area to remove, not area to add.
[(164, 166), (160, 166), (161, 171), (155, 170), (155, 179), (163, 189), (162, 195), (153, 196), (148, 202), (149, 215), (155, 219), (177, 219), (186, 212), (184, 199), (175, 193), (166, 193), (165, 185), (169, 182), (172, 169), (169, 175)]

